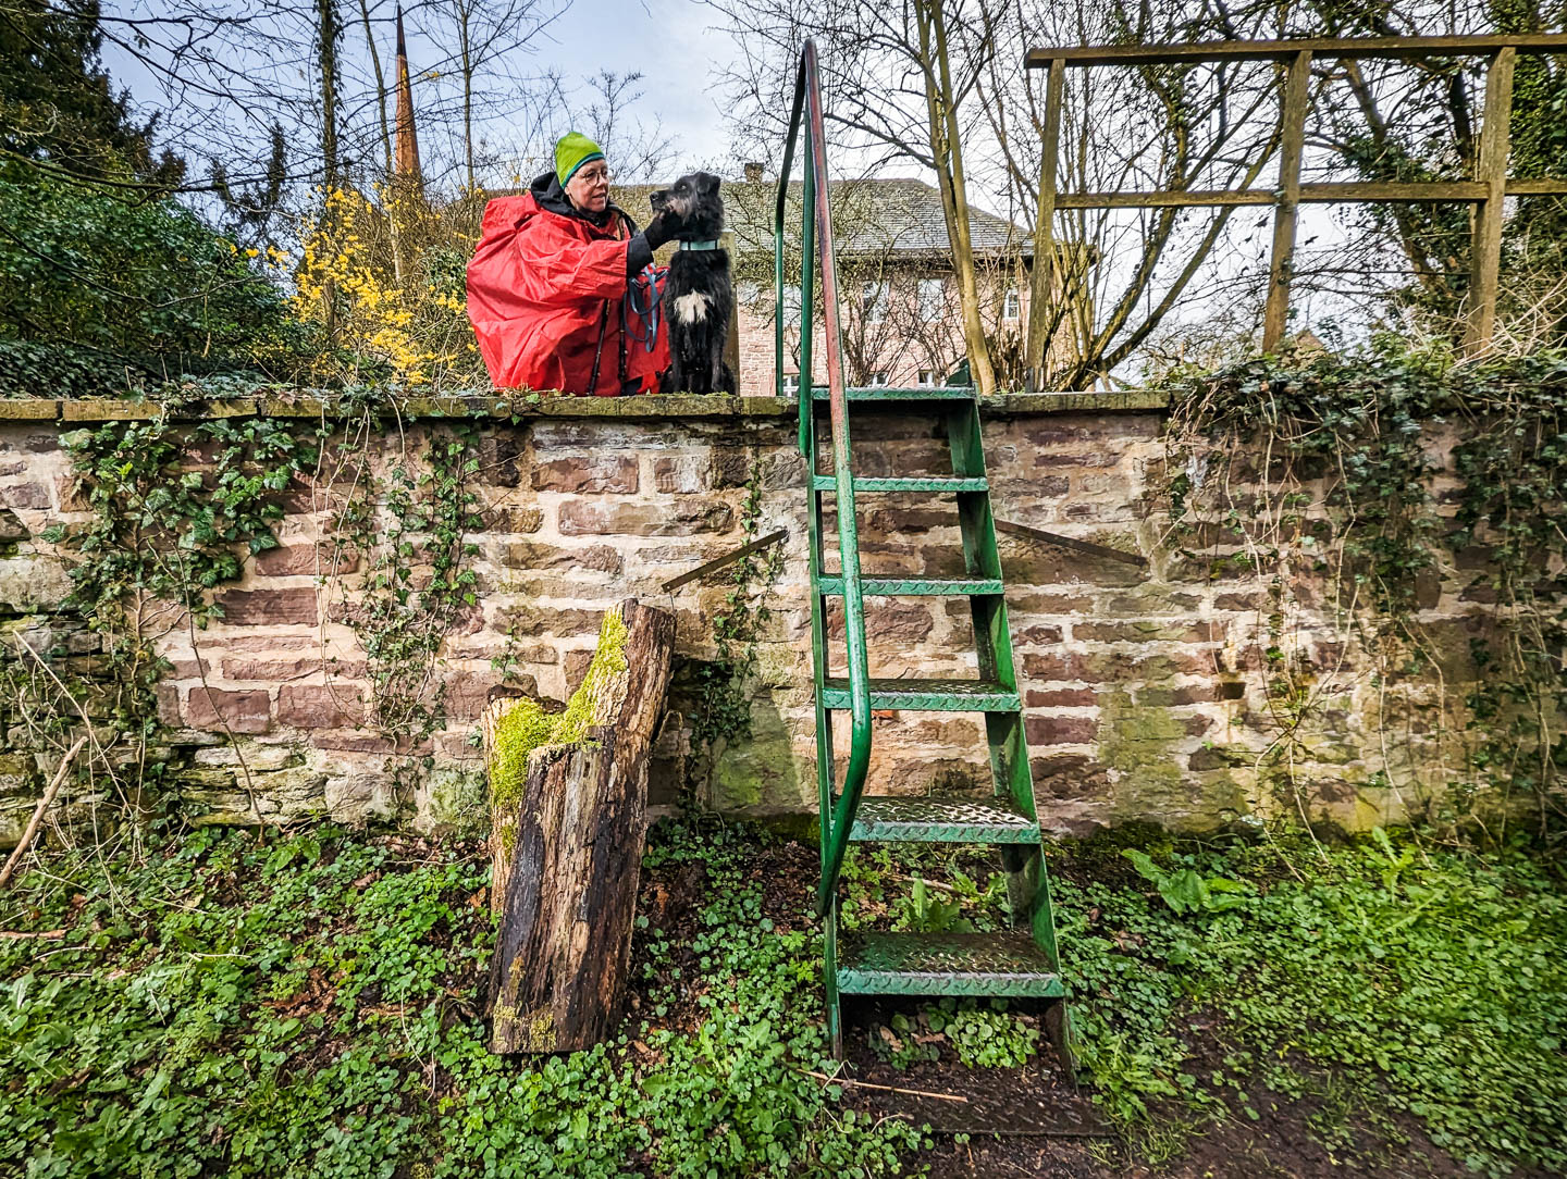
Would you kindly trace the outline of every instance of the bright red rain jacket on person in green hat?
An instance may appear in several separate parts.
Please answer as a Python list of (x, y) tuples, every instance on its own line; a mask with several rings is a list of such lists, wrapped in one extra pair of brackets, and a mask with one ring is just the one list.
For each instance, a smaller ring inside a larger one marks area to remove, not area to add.
[(622, 391), (624, 363), (624, 391), (657, 391), (669, 368), (663, 316), (652, 352), (621, 330), (635, 232), (621, 210), (603, 227), (575, 215), (553, 174), (484, 207), (469, 263), (469, 319), (497, 388), (610, 398)]

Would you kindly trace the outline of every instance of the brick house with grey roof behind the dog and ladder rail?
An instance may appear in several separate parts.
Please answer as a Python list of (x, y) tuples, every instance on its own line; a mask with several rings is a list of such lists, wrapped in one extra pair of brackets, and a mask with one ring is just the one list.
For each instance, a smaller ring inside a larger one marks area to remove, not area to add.
[[(749, 166), (746, 180), (724, 182), (735, 272), (740, 393), (773, 393), (774, 291), (773, 207), (777, 186)], [(649, 185), (619, 186), (614, 200), (647, 218)], [(799, 382), (799, 193), (790, 186), (785, 244), (785, 388)], [(940, 385), (967, 379), (957, 283), (940, 193), (920, 180), (840, 180), (832, 185), (834, 230), (843, 310), (843, 355), (851, 385)], [(981, 318), (992, 340), (998, 384), (1019, 382), (1033, 255), (1028, 233), (1003, 218), (972, 211), (970, 233), (981, 290)], [(818, 296), (820, 297), (820, 283)], [(820, 329), (813, 346), (818, 384), (826, 384)]]

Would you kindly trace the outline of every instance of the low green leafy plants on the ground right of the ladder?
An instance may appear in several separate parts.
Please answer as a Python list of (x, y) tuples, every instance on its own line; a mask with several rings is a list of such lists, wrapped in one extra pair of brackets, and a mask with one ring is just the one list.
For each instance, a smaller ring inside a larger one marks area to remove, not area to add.
[[(1111, 1112), (1202, 1107), (1297, 1058), (1413, 1115), (1475, 1170), (1567, 1166), (1559, 872), (1387, 835), (1290, 856), (1287, 875), (1274, 847), (1155, 858), (1156, 896), (1055, 888), (1083, 1062)], [(1191, 878), (1250, 886), (1192, 907), (1171, 888)], [(1203, 1073), (1214, 1051), (1224, 1063)]]

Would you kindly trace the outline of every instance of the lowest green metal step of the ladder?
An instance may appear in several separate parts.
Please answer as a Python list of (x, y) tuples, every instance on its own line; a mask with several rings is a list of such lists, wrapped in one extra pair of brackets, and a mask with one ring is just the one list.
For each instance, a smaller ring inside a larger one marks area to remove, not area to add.
[(1025, 930), (845, 933), (837, 979), (846, 994), (1066, 996), (1050, 955)]

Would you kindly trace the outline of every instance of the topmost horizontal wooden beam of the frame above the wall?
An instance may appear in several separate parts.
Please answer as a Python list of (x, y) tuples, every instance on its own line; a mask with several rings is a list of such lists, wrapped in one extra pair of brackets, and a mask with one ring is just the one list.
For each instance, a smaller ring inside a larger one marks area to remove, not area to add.
[(1051, 61), (1067, 66), (1167, 66), (1200, 61), (1290, 61), (1301, 50), (1318, 58), (1432, 58), (1518, 53), (1567, 53), (1567, 34), (1528, 33), (1460, 38), (1299, 38), (1290, 41), (1199, 41), (1191, 45), (1056, 45), (1031, 49), (1026, 69), (1045, 69)]

